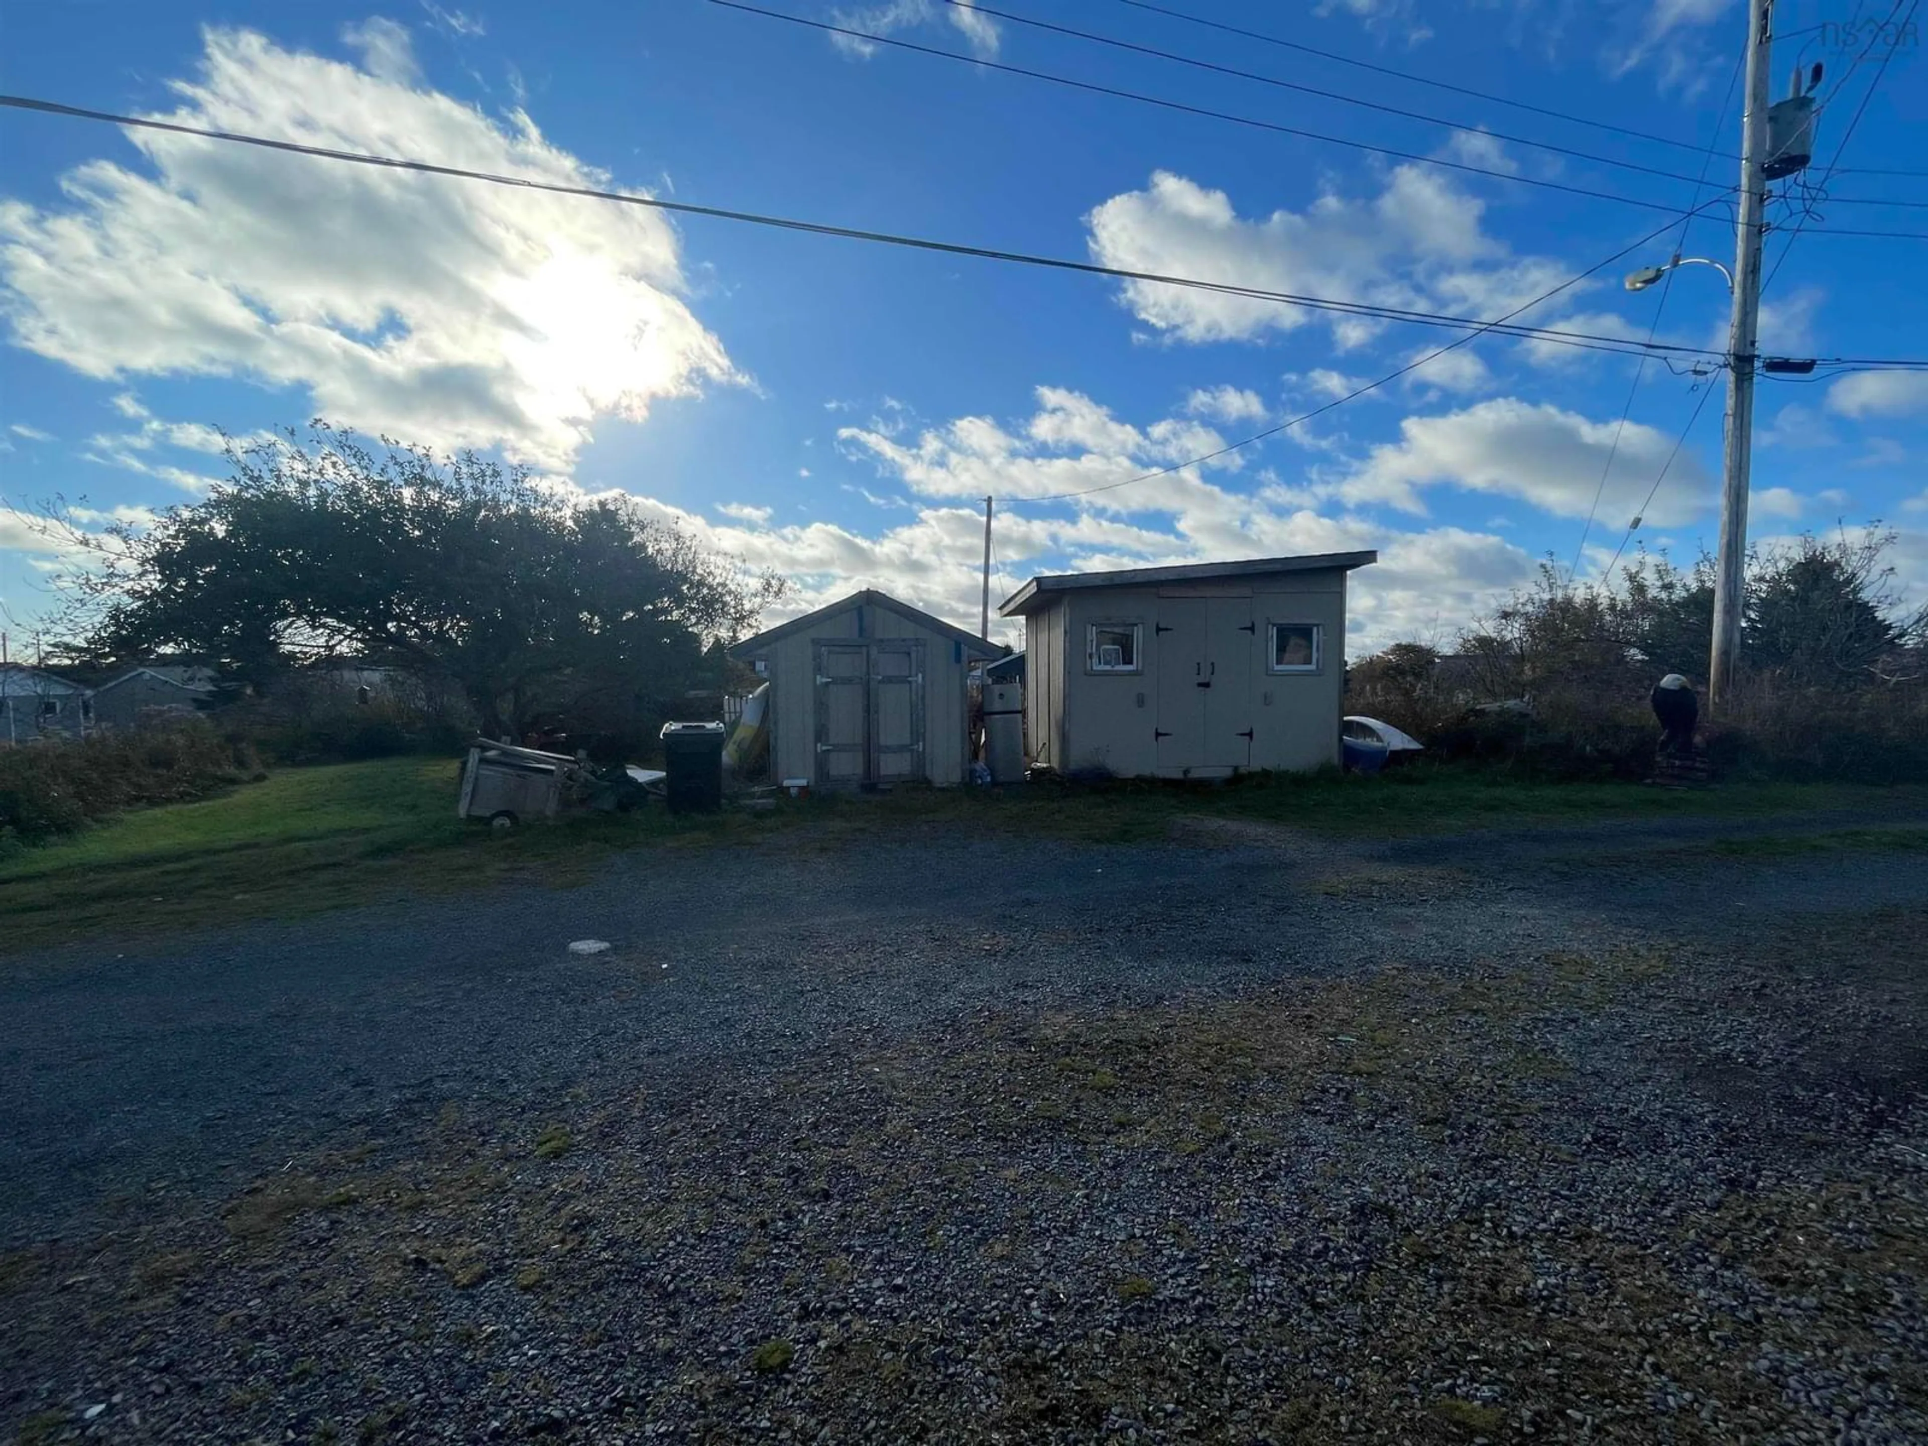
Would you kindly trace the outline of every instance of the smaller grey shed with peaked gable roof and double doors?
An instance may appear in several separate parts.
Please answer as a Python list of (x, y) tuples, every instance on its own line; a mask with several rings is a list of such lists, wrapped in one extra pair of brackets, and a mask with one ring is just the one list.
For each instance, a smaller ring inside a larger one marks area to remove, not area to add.
[(769, 679), (769, 760), (817, 789), (954, 785), (964, 681), (1004, 648), (866, 588), (731, 646)]

